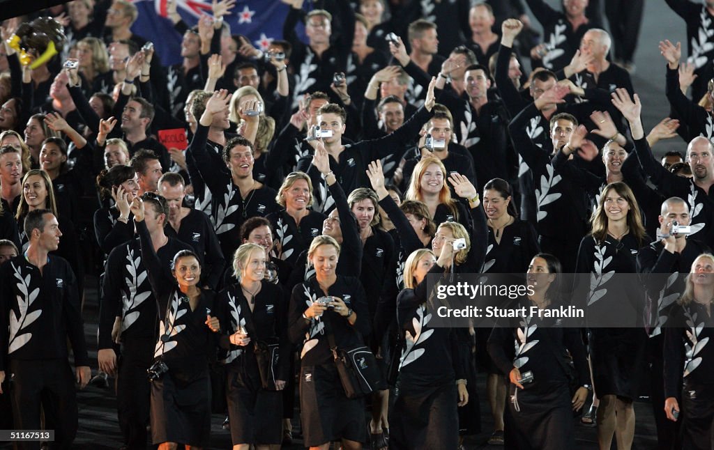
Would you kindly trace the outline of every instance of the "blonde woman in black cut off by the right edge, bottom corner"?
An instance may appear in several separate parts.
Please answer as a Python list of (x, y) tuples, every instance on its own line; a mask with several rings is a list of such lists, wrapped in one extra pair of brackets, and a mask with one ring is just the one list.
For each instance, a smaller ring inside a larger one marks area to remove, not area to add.
[[(694, 260), (685, 290), (667, 319), (665, 414), (682, 421), (682, 449), (710, 450), (714, 436), (714, 255)], [(682, 370), (684, 368), (684, 370)]]

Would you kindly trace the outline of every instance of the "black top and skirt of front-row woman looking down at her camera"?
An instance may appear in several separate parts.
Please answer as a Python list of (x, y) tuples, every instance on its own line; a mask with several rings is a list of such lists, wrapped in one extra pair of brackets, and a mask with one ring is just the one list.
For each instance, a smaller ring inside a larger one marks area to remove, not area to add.
[(325, 294), (316, 277), (293, 289), (288, 315), (288, 334), (293, 344), (302, 344), (300, 355), (300, 406), (304, 444), (318, 446), (338, 439), (366, 440), (363, 399), (348, 399), (328, 343), (333, 333), (338, 347), (363, 342), (370, 332), (367, 301), (358, 279), (337, 276), (327, 295), (341, 297), (354, 310), (357, 321), (349, 324), (345, 317), (327, 310), (321, 317), (305, 319), (303, 313)]

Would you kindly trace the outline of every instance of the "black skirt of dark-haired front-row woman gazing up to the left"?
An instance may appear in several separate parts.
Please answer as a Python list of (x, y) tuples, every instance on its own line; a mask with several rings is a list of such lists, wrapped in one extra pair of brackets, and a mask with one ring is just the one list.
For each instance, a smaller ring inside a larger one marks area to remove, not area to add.
[(507, 426), (513, 424), (515, 428), (506, 430), (508, 434), (532, 449), (574, 449), (575, 426), (568, 384), (549, 383), (533, 388), (508, 385), (511, 420)]

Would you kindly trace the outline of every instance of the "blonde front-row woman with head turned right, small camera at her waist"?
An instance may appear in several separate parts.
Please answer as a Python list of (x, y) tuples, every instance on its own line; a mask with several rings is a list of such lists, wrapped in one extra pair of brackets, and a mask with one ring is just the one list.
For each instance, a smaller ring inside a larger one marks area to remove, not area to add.
[[(261, 245), (238, 247), (233, 272), (238, 280), (218, 296), (225, 333), (221, 347), (228, 350), (226, 399), (234, 450), (279, 448), (282, 441), (283, 402), (280, 392), (290, 368), (290, 344), (285, 333), (283, 290), (265, 279), (266, 252)], [(278, 361), (264, 355), (278, 345)], [(263, 354), (261, 354), (263, 352)], [(267, 364), (266, 364), (267, 363)]]

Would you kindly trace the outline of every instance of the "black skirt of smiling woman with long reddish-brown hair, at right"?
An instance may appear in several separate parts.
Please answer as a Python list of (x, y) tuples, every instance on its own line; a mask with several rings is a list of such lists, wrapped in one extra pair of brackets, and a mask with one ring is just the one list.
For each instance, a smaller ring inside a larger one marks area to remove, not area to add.
[(590, 329), (595, 393), (634, 400), (645, 365), (647, 335), (640, 328)]

